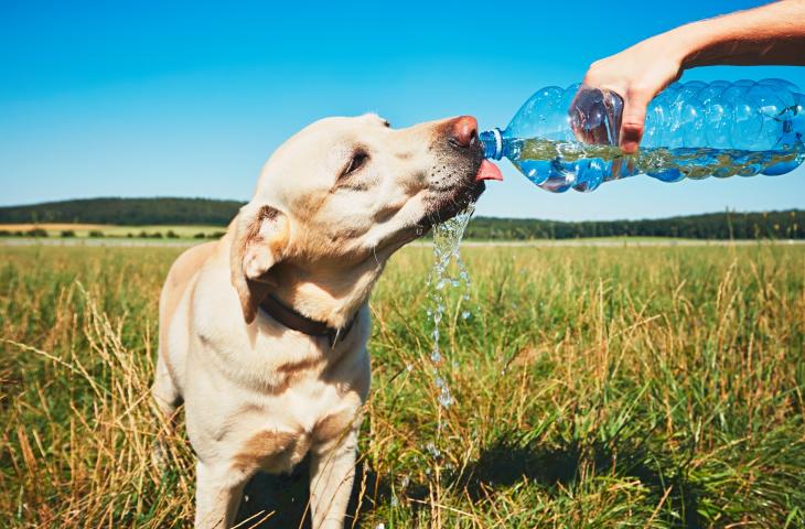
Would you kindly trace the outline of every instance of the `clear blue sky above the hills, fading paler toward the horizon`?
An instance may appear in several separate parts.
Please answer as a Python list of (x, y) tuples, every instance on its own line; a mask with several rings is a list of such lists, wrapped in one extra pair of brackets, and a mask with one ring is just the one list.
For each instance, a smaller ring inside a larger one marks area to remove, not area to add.
[[(503, 128), (532, 93), (683, 23), (762, 2), (0, 0), (0, 205), (95, 196), (246, 201), (265, 160), (326, 116)], [(805, 68), (710, 67), (683, 80)], [(507, 162), (477, 214), (564, 220), (805, 208), (783, 176), (637, 176), (555, 195)]]

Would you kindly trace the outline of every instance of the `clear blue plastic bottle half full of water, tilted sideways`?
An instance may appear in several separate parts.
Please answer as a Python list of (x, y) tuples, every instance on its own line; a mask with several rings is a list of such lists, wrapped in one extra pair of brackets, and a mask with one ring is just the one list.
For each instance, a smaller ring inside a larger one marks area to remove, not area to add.
[(758, 173), (805, 160), (805, 97), (782, 79), (675, 83), (651, 102), (640, 151), (618, 148), (623, 100), (583, 85), (534, 94), (505, 130), (481, 133), (485, 156), (507, 158), (556, 193), (647, 174), (663, 182)]

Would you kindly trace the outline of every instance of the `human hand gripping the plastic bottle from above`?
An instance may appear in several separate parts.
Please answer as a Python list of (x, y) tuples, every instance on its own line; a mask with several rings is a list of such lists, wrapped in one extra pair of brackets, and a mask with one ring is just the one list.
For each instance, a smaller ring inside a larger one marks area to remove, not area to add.
[(634, 153), (640, 145), (651, 100), (681, 75), (685, 54), (679, 50), (679, 42), (664, 33), (595, 61), (587, 71), (584, 85), (623, 98), (619, 144), (624, 153)]

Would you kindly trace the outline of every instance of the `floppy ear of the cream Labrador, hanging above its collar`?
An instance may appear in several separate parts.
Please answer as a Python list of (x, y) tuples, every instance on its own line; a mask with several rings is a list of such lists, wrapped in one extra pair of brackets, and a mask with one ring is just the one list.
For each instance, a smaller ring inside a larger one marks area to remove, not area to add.
[(251, 323), (257, 306), (276, 283), (271, 267), (282, 260), (289, 238), (288, 217), (271, 206), (246, 204), (234, 223), (232, 284), (240, 298), (244, 320)]

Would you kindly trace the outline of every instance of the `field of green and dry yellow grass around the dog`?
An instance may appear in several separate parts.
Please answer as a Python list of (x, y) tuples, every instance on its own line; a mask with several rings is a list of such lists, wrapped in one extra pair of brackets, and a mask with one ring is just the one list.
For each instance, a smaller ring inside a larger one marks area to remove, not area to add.
[[(0, 525), (187, 527), (192, 452), (179, 432), (170, 467), (151, 465), (147, 392), (180, 250), (0, 251)], [(805, 527), (805, 247), (463, 253), (447, 410), (429, 248), (396, 256), (375, 291), (347, 527)], [(305, 486), (301, 469), (260, 476), (247, 495), (271, 498), (243, 517), (297, 527)]]

